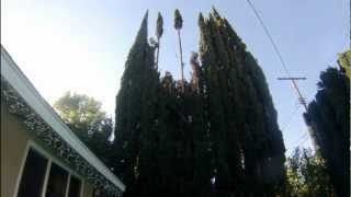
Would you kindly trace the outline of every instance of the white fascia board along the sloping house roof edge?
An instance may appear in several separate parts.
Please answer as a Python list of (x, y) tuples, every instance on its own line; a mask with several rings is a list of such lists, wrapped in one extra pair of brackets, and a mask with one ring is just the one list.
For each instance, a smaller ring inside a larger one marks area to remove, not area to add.
[(56, 114), (53, 107), (41, 96), (31, 81), (13, 61), (11, 56), (1, 45), (1, 76), (18, 91), (24, 101), (57, 132), (68, 144), (71, 146), (82, 158), (95, 167), (110, 182), (121, 190), (125, 185), (81, 142), (78, 137)]

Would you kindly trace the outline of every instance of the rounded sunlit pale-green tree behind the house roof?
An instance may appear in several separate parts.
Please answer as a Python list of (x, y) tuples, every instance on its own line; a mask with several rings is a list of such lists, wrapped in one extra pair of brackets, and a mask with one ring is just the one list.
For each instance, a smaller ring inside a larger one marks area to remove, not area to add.
[(113, 123), (101, 109), (101, 103), (84, 94), (66, 92), (54, 103), (54, 108), (77, 137), (110, 165)]

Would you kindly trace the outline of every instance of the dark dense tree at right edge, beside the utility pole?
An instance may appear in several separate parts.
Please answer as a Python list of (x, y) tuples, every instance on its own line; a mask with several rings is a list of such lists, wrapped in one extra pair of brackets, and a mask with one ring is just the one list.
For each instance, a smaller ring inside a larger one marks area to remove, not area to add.
[(328, 68), (320, 74), (316, 100), (305, 118), (314, 128), (314, 140), (326, 160), (338, 196), (350, 187), (350, 81), (343, 72)]

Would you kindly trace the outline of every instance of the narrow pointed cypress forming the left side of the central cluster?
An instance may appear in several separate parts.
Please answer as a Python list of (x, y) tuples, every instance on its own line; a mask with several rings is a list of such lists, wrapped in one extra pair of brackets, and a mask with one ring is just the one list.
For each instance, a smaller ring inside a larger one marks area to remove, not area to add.
[(145, 14), (136, 40), (125, 63), (121, 89), (116, 97), (115, 135), (120, 176), (128, 186), (138, 175), (141, 136), (149, 130), (149, 113), (155, 102), (158, 73), (154, 68), (154, 48), (147, 43)]

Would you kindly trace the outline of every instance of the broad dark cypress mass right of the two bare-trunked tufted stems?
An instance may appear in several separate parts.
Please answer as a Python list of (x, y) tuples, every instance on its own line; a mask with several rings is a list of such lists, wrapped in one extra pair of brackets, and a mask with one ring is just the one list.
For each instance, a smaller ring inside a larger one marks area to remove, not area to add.
[[(218, 195), (274, 193), (284, 146), (263, 72), (215, 9), (208, 20), (200, 16), (200, 27)], [(244, 188), (233, 190), (238, 184)]]

